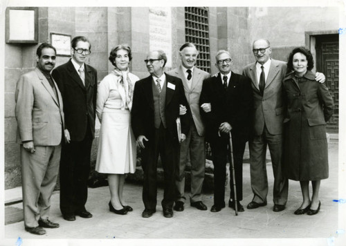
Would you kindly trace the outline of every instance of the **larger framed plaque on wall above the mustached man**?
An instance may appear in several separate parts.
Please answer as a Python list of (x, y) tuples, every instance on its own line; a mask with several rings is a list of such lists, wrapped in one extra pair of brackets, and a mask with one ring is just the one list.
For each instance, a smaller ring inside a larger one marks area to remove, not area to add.
[(38, 8), (6, 8), (6, 43), (38, 43)]

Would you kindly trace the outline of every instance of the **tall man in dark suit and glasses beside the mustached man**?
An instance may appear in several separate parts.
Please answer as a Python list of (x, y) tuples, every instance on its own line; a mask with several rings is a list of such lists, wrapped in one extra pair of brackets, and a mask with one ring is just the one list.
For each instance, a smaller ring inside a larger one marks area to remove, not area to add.
[(97, 72), (86, 64), (91, 53), (89, 40), (75, 37), (71, 47), (72, 59), (52, 73), (64, 102), (66, 143), (60, 160), (60, 210), (68, 221), (75, 220), (76, 215), (92, 217), (85, 204), (98, 88)]

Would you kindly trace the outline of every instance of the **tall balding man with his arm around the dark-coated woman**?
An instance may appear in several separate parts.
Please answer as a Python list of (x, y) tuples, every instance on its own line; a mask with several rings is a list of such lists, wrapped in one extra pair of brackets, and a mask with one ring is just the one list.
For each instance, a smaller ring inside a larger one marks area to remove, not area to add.
[[(266, 39), (253, 42), (253, 55), (256, 61), (243, 70), (243, 75), (250, 78), (254, 100), (253, 136), (249, 141), (250, 173), (253, 200), (248, 209), (265, 206), (268, 194), (266, 175), (266, 146), (271, 153), (273, 166), (273, 211), (285, 209), (288, 196), (288, 180), (282, 173), (282, 131), (284, 120), (284, 102), (282, 97), (282, 80), (286, 75), (287, 65), (284, 61), (271, 59), (271, 44)], [(325, 76), (316, 73), (316, 80), (325, 81)]]

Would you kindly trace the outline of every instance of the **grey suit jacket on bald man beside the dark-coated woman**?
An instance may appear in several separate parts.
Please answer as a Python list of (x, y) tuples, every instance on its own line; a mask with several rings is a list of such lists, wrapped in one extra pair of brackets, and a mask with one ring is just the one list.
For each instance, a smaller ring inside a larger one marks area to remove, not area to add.
[(268, 132), (282, 134), (282, 121), (284, 120), (284, 102), (282, 91), (282, 80), (286, 75), (287, 64), (284, 61), (271, 59), (266, 86), (264, 87), (263, 97), (258, 88), (256, 76), (256, 62), (246, 66), (243, 75), (250, 78), (253, 88), (253, 133), (261, 135), (264, 124)]

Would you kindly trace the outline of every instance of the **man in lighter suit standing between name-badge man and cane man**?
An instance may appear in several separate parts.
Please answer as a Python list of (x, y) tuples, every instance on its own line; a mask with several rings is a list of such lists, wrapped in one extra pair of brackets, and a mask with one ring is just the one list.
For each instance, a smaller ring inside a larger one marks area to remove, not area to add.
[(196, 46), (186, 43), (179, 49), (181, 66), (170, 70), (167, 74), (179, 77), (183, 81), (185, 97), (188, 100), (188, 112), (191, 117), (190, 131), (186, 140), (181, 143), (179, 169), (176, 178), (178, 196), (174, 210), (183, 211), (185, 190), (185, 167), (190, 154), (191, 163), (191, 196), (190, 205), (200, 210), (207, 210), (202, 202), (201, 190), (206, 168), (206, 146), (204, 141), (204, 126), (199, 113), (199, 96), (201, 95), (203, 80), (210, 77), (208, 73), (195, 66), (199, 54)]

